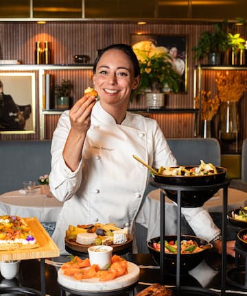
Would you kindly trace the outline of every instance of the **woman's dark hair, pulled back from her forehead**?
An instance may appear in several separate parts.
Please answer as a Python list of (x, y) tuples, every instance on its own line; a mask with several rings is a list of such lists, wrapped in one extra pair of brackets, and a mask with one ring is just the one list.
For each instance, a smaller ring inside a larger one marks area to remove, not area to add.
[(108, 51), (110, 49), (118, 49), (118, 50), (124, 51), (124, 53), (126, 53), (126, 55), (130, 58), (130, 62), (132, 63), (132, 65), (134, 67), (134, 77), (137, 77), (140, 74), (140, 66), (139, 66), (139, 62), (137, 60), (137, 56), (135, 55), (132, 47), (130, 45), (126, 45), (124, 43), (109, 45), (108, 47), (105, 47), (104, 49), (98, 50), (97, 58), (93, 64), (93, 73), (94, 74), (96, 72), (96, 67), (97, 67), (97, 63), (99, 62), (99, 59), (102, 57), (102, 55), (106, 51)]

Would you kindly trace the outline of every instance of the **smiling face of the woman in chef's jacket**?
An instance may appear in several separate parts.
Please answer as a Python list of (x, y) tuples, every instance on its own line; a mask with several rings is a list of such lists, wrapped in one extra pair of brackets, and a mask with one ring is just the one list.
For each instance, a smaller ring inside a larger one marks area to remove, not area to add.
[(139, 76), (134, 77), (134, 66), (124, 51), (110, 49), (97, 63), (93, 84), (105, 110), (110, 106), (127, 109), (131, 91), (139, 84)]

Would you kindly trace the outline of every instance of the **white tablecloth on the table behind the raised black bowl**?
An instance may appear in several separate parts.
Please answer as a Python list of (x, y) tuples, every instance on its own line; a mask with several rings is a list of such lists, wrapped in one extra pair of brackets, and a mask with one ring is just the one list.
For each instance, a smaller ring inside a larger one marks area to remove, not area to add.
[[(204, 208), (209, 212), (222, 212), (223, 190), (220, 189), (209, 201), (204, 204)], [(247, 193), (241, 190), (228, 188), (228, 211), (247, 205)], [(165, 234), (176, 234), (177, 207), (170, 199), (165, 197)], [(160, 236), (161, 233), (161, 210), (160, 210), (160, 190), (152, 190), (146, 197), (139, 214), (137, 223), (148, 229), (147, 239)]]

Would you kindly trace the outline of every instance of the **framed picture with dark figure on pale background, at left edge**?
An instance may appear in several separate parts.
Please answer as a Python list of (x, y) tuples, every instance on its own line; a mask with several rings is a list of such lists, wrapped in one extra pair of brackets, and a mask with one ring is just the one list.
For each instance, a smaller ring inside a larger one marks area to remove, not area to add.
[(35, 73), (0, 73), (0, 134), (34, 134), (35, 102)]

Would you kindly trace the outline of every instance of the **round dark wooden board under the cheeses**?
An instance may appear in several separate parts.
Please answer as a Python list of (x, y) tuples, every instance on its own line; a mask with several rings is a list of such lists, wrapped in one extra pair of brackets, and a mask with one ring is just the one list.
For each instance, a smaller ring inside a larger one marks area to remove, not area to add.
[[(133, 242), (133, 236), (128, 234), (127, 241), (124, 244), (117, 244), (117, 245), (110, 245), (113, 247), (113, 253), (124, 251), (125, 249), (131, 249), (132, 248), (132, 242)], [(87, 249), (89, 247), (92, 247), (93, 245), (81, 245), (79, 243), (76, 243), (75, 240), (69, 240), (65, 238), (65, 245), (69, 247), (69, 249), (72, 249), (73, 251), (79, 251), (81, 253), (88, 253)]]

